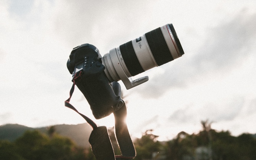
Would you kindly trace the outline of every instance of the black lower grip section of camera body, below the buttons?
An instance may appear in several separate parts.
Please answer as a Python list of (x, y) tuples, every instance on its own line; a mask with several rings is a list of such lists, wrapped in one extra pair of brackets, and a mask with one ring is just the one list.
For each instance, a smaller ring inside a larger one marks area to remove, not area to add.
[(81, 77), (76, 86), (88, 101), (96, 119), (104, 118), (122, 107), (123, 100), (115, 94), (103, 71)]

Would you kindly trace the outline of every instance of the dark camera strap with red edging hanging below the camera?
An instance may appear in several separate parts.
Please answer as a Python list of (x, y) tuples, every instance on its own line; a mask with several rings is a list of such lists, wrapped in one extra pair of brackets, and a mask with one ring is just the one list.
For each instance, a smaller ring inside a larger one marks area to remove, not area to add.
[[(128, 160), (134, 158), (136, 156), (136, 151), (126, 124), (127, 110), (125, 103), (119, 110), (113, 113), (115, 117), (115, 136), (119, 145), (119, 149), (121, 151), (121, 155), (114, 154), (112, 143), (107, 132), (107, 127), (97, 126), (97, 124), (94, 123), (94, 121), (92, 121), (90, 118), (83, 115), (82, 113), (79, 113), (78, 110), (76, 110), (76, 108), (70, 104), (70, 99), (75, 90), (76, 82), (78, 82), (81, 79), (82, 74), (83, 72), (80, 71), (79, 73), (76, 73), (73, 77), (73, 85), (70, 89), (70, 97), (65, 101), (65, 106), (77, 112), (87, 121), (87, 123), (89, 123), (92, 126), (93, 130), (89, 137), (89, 142), (91, 144), (92, 152), (95, 155), (96, 159)], [(113, 86), (115, 94), (121, 95), (120, 87), (118, 88), (115, 86), (117, 85)]]

